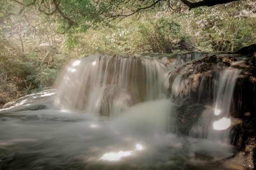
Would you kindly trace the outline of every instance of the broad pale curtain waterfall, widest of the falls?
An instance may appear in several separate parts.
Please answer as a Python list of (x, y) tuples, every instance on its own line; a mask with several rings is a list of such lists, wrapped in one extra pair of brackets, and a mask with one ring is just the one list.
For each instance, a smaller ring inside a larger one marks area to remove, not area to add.
[(165, 68), (148, 56), (89, 55), (65, 67), (54, 85), (55, 104), (115, 117), (134, 104), (166, 96)]

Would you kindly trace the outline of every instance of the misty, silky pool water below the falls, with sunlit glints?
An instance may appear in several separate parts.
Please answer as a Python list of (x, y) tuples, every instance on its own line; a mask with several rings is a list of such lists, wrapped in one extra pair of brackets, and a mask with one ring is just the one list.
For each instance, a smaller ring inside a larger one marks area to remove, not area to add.
[(214, 162), (233, 154), (232, 146), (168, 132), (172, 117), (167, 103), (168, 99), (144, 102), (115, 119), (52, 109), (3, 113), (0, 167), (187, 170), (195, 164), (207, 169), (218, 168)]

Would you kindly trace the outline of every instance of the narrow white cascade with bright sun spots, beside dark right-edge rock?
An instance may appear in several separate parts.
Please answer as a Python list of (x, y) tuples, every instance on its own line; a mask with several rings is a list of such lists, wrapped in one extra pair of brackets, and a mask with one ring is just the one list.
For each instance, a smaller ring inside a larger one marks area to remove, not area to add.
[(231, 97), (233, 95), (236, 79), (240, 73), (237, 68), (227, 67), (215, 84), (216, 100), (213, 106), (208, 106), (198, 119), (197, 125), (190, 130), (190, 136), (206, 138), (211, 141), (230, 143), (231, 120), (229, 118)]

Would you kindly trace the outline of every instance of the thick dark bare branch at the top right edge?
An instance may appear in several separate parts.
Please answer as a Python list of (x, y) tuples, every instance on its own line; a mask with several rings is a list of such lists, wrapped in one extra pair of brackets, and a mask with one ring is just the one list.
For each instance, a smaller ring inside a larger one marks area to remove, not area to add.
[(211, 7), (217, 4), (226, 4), (228, 2), (238, 1), (238, 0), (202, 0), (199, 2), (189, 2), (188, 0), (181, 0), (186, 6), (189, 7), (189, 10), (192, 8), (198, 8), (202, 6)]

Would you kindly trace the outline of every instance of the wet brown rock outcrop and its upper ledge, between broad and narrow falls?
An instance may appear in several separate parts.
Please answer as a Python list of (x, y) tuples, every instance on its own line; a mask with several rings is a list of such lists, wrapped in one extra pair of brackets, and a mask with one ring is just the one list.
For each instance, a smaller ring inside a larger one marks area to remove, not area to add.
[[(237, 54), (207, 56), (176, 68), (169, 73), (168, 90), (171, 97), (180, 101), (186, 97), (193, 97), (198, 103), (212, 103), (220, 72), (237, 61), (236, 58), (240, 56)], [(176, 93), (173, 93), (172, 85), (177, 81), (178, 75), (181, 76), (180, 87)]]

